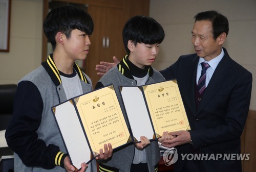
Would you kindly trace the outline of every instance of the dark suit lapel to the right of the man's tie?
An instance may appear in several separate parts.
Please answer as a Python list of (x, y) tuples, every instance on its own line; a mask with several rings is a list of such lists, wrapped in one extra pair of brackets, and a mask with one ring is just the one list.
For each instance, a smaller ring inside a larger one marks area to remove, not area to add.
[(225, 51), (225, 55), (218, 64), (217, 68), (214, 71), (214, 75), (212, 75), (208, 86), (205, 89), (204, 95), (202, 97), (202, 101), (198, 106), (197, 114), (203, 109), (204, 106), (207, 106), (208, 102), (211, 100), (212, 96), (214, 96), (215, 92), (220, 89), (222, 83), (226, 80), (229, 75), (228, 68), (230, 67), (230, 57)]

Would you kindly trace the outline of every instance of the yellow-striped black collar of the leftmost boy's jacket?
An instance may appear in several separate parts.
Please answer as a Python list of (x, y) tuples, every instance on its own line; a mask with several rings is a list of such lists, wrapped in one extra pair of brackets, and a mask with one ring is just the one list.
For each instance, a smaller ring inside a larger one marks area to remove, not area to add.
[[(56, 86), (61, 84), (61, 79), (60, 79), (60, 75), (59, 75), (59, 70), (57, 69), (57, 66), (55, 65), (53, 59), (52, 59), (52, 54), (50, 54), (48, 56), (48, 59), (45, 62), (42, 62), (42, 66), (44, 66), (44, 68), (46, 69), (46, 71), (48, 72), (49, 76), (51, 77), (52, 81), (54, 82), (54, 84)], [(79, 68), (79, 66), (74, 63), (74, 69), (76, 70), (76, 72), (78, 73), (79, 78), (90, 84), (86, 78), (86, 76), (84, 75), (84, 73), (81, 71), (81, 69)]]

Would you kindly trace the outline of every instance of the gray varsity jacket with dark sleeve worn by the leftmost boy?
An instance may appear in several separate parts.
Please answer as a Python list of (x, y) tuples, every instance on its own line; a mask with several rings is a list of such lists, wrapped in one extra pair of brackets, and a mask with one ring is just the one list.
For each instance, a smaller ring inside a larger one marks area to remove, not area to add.
[[(51, 57), (49, 57), (47, 61), (49, 62), (50, 60)], [(30, 109), (28, 109), (27, 106), (29, 103), (28, 101), (30, 100), (16, 100), (17, 106), (16, 109), (14, 109), (14, 117), (10, 122), (10, 128), (7, 129), (6, 131), (8, 145), (10, 145), (10, 148), (12, 148), (15, 152), (15, 171), (66, 171), (65, 168), (52, 165), (55, 159), (54, 152), (59, 150), (63, 153), (67, 153), (65, 144), (63, 143), (53, 113), (51, 111), (51, 108), (53, 106), (67, 100), (65, 90), (63, 89), (61, 80), (59, 79), (59, 74), (58, 72), (56, 72), (57, 69), (54, 69), (54, 67), (52, 67), (54, 66), (53, 64), (54, 62), (52, 62), (52, 64), (43, 62), (41, 66), (39, 66), (34, 71), (30, 72), (27, 76), (25, 76), (22, 80), (19, 81), (19, 84), (22, 83), (22, 88), (17, 89), (17, 91), (20, 90), (18, 94), (23, 94), (26, 97), (23, 91), (30, 93), (32, 91), (32, 96), (37, 97), (35, 100), (38, 101), (32, 102), (36, 106), (31, 107), (31, 109), (34, 109), (33, 111), (31, 111)], [(92, 91), (92, 84), (90, 78), (87, 75), (85, 75), (85, 73), (81, 72), (76, 64), (74, 64), (74, 68), (79, 75), (83, 93)], [(18, 106), (19, 104), (20, 106)], [(22, 118), (20, 116), (25, 117)], [(33, 118), (34, 120), (28, 121), (28, 119), (31, 118)], [(20, 124), (26, 127), (20, 128), (22, 127), (20, 126)], [(27, 132), (27, 134), (20, 135), (18, 134), (20, 132)], [(37, 135), (37, 138), (34, 138), (35, 135)], [(32, 139), (33, 143), (31, 143), (30, 141)], [(28, 144), (20, 144), (20, 142), (24, 141), (28, 141)], [(32, 146), (32, 144), (38, 144), (38, 146)], [(47, 148), (45, 148), (45, 146), (41, 146), (44, 144), (47, 146)], [(27, 150), (30, 151), (30, 154)], [(81, 163), (82, 162), (83, 161), (81, 161)], [(96, 171), (95, 162), (95, 160), (92, 162), (92, 171)]]

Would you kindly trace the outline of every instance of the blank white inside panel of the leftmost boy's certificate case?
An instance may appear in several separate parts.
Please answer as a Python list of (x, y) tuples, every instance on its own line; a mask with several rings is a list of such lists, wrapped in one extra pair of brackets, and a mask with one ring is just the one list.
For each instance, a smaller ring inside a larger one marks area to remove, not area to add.
[(70, 100), (56, 106), (54, 116), (71, 162), (79, 169), (82, 162), (91, 161), (91, 150), (73, 102)]

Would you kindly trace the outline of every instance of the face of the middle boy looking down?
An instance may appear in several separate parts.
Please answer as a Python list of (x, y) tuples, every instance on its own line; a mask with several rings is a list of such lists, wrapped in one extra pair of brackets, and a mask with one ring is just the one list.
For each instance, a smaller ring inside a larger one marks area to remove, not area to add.
[(129, 60), (137, 67), (143, 69), (145, 66), (149, 66), (154, 63), (159, 52), (160, 44), (137, 43), (135, 46), (132, 41), (129, 41), (127, 46), (131, 51)]

